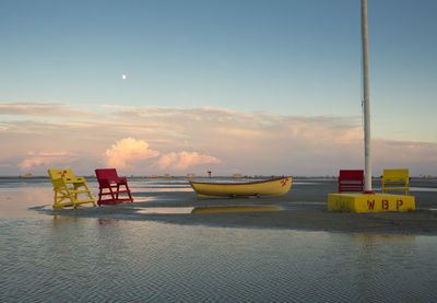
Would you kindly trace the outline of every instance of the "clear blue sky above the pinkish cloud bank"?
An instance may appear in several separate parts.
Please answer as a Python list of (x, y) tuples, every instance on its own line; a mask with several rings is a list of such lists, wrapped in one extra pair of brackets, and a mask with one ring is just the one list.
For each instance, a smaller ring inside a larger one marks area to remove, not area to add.
[[(358, 0), (1, 1), (0, 104), (102, 114), (109, 110), (102, 105), (211, 107), (359, 126), (359, 8)], [(373, 138), (437, 143), (436, 11), (433, 0), (368, 0)], [(9, 121), (62, 119), (12, 110), (0, 123), (10, 131)]]

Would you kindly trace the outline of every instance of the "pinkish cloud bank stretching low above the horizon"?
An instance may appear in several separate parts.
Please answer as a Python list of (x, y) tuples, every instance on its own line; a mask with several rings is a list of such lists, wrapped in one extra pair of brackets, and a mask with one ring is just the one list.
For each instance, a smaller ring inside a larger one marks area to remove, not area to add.
[[(104, 117), (104, 118), (103, 118)], [(56, 138), (56, 139), (54, 139)], [(227, 108), (2, 104), (2, 175), (69, 165), (79, 174), (336, 175), (364, 167), (361, 117), (286, 116)], [(373, 138), (374, 175), (409, 167), (435, 175), (437, 143)], [(62, 154), (63, 153), (63, 154)]]

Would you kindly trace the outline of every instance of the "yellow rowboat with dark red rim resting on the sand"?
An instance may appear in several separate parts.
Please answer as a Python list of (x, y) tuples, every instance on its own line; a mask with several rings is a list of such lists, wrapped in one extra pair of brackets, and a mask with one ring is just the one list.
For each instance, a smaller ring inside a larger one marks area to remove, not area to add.
[(190, 180), (198, 197), (279, 196), (288, 193), (292, 177), (249, 183), (202, 183)]

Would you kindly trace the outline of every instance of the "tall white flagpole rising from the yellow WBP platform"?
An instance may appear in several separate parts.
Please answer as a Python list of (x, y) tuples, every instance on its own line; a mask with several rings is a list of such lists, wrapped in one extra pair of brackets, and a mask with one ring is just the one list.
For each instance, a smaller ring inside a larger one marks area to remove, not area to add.
[(370, 100), (368, 77), (368, 35), (367, 35), (367, 0), (362, 0), (362, 39), (363, 39), (363, 110), (364, 110), (364, 190), (371, 191), (370, 161)]

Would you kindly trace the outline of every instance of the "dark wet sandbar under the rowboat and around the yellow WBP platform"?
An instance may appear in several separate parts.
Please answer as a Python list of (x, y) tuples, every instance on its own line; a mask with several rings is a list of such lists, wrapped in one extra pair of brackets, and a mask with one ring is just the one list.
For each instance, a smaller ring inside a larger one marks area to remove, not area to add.
[[(55, 215), (73, 215), (108, 220), (157, 221), (173, 224), (196, 224), (222, 228), (293, 229), (359, 234), (424, 234), (437, 235), (437, 191), (412, 193), (416, 210), (409, 212), (351, 213), (328, 212), (327, 195), (336, 191), (336, 183), (317, 186), (305, 183), (292, 187), (281, 197), (263, 198), (197, 198), (193, 193), (166, 193), (152, 201), (134, 201), (115, 206), (83, 209), (48, 210)], [(214, 206), (279, 206), (280, 211), (170, 213), (172, 208)], [(169, 208), (168, 213), (144, 213), (150, 208)], [(430, 210), (436, 209), (436, 210)], [(36, 209), (38, 210), (38, 209)]]

